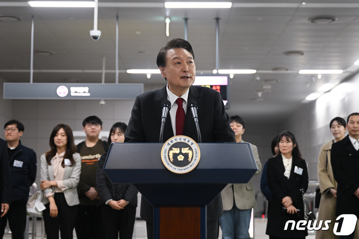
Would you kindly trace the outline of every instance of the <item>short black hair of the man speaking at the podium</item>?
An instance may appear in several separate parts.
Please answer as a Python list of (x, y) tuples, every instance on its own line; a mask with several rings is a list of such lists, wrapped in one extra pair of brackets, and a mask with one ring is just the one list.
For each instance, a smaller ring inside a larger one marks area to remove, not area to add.
[(192, 46), (189, 42), (187, 42), (185, 39), (181, 38), (173, 38), (172, 40), (169, 40), (166, 42), (164, 47), (159, 50), (157, 55), (157, 66), (158, 68), (160, 66), (165, 67), (166, 66), (166, 57), (168, 50), (174, 49), (174, 48), (183, 48), (186, 49), (189, 53), (191, 53), (193, 60), (195, 59), (195, 54), (193, 53)]

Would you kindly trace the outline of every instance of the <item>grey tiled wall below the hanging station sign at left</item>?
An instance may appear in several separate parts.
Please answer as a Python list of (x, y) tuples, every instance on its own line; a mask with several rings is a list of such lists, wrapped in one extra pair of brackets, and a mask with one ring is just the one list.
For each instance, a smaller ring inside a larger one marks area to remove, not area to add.
[[(129, 122), (133, 104), (134, 100), (106, 100), (104, 106), (100, 106), (99, 100), (13, 100), (12, 117), (24, 124), (22, 144), (34, 149), (39, 160), (49, 150), (55, 125), (65, 123), (72, 130), (82, 130), (84, 118), (97, 115), (103, 121), (103, 130), (109, 131), (115, 122)], [(37, 183), (39, 166), (38, 161)]]

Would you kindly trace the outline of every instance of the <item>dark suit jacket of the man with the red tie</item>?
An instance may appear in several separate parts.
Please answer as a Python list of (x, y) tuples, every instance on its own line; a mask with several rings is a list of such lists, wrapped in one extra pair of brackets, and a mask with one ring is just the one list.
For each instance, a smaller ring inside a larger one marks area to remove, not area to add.
[[(129, 125), (125, 132), (125, 142), (158, 142), (161, 126), (162, 102), (167, 100), (167, 84), (158, 90), (145, 92), (136, 97)], [(188, 100), (197, 102), (197, 112), (202, 142), (236, 142), (229, 125), (222, 98), (216, 90), (204, 86), (191, 86)], [(197, 141), (197, 131), (192, 113), (187, 108), (183, 135)], [(173, 137), (171, 116), (167, 114), (163, 141)], [(223, 214), (220, 194), (207, 206), (207, 220), (215, 220)], [(153, 205), (144, 197), (141, 199), (141, 217), (153, 223)]]

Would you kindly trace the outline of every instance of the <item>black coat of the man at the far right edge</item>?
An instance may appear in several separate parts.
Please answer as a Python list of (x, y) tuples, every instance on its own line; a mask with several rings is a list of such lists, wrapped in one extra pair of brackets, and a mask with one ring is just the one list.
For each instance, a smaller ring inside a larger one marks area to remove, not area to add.
[(359, 151), (354, 149), (347, 135), (332, 145), (330, 154), (333, 175), (338, 182), (335, 215), (355, 214), (359, 217)]

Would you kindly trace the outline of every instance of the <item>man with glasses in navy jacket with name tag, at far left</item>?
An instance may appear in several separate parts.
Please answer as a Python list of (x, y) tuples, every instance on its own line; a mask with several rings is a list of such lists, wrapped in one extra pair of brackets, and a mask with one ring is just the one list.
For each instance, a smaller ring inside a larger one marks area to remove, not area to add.
[(21, 144), (20, 137), (24, 125), (17, 120), (10, 120), (4, 125), (5, 139), (8, 146), (11, 202), (8, 213), (0, 218), (0, 236), (4, 235), (6, 220), (9, 221), (11, 237), (23, 239), (26, 225), (26, 203), (31, 185), (36, 178), (36, 153)]

